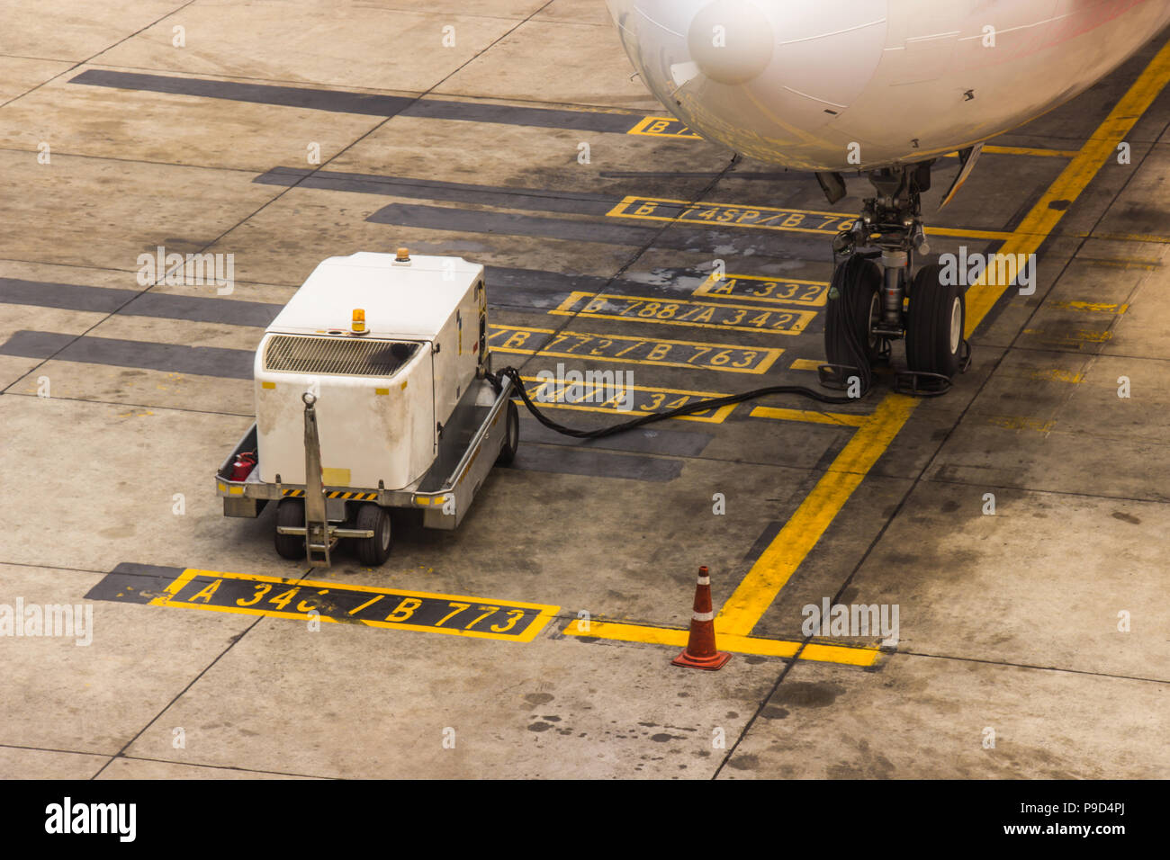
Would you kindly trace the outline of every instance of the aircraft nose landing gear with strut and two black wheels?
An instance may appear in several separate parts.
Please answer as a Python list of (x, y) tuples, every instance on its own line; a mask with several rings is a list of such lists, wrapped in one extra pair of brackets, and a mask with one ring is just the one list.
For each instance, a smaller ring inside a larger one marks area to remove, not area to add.
[(820, 377), (828, 387), (848, 388), (855, 379), (863, 393), (872, 366), (901, 338), (909, 370), (897, 374), (895, 391), (942, 394), (970, 364), (964, 288), (944, 284), (938, 264), (910, 276), (915, 253), (930, 253), (921, 194), (930, 188), (931, 164), (869, 171), (876, 197), (833, 239), (834, 256), (845, 260), (833, 271), (826, 309)]

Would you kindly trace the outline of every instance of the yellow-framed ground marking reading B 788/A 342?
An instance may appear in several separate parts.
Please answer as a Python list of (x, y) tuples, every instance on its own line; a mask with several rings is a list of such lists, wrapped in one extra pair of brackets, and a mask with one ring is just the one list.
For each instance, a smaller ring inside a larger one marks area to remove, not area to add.
[(691, 302), (686, 298), (640, 298), (593, 293), (571, 293), (549, 312), (591, 319), (686, 325), (724, 331), (759, 331), (772, 335), (799, 335), (817, 316), (814, 310), (794, 308), (760, 308), (751, 304)]

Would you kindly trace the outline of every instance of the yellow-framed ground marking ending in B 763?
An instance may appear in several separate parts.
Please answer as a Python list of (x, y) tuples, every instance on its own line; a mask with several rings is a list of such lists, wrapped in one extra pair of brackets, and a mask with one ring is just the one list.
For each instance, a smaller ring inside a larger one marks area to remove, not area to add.
[[(553, 337), (532, 338), (534, 333), (549, 333)], [(521, 325), (489, 325), (488, 343), (495, 351), (524, 356), (590, 358), (660, 367), (702, 367), (725, 373), (766, 373), (784, 353), (778, 346), (744, 348), (627, 335), (552, 332), (551, 329), (528, 329)]]

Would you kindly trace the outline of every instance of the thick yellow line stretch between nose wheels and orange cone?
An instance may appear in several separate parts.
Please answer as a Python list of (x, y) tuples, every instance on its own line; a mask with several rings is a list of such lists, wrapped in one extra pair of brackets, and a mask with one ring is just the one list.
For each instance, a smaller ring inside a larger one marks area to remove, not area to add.
[(917, 400), (887, 394), (748, 571), (715, 619), (718, 633), (748, 635), (817, 545), (878, 457), (902, 429)]

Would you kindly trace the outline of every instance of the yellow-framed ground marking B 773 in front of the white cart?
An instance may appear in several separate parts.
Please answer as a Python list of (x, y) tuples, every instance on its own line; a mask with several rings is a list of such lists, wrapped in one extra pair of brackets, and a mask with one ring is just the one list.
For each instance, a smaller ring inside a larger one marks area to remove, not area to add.
[[(383, 598), (391, 600), (380, 604)], [(302, 621), (358, 622), (367, 627), (512, 642), (532, 641), (560, 610), (518, 600), (483, 600), (195, 567), (184, 570), (150, 605)], [(453, 620), (464, 610), (466, 614)]]

